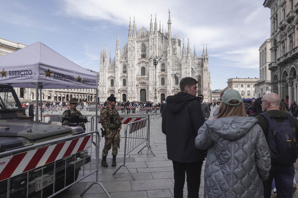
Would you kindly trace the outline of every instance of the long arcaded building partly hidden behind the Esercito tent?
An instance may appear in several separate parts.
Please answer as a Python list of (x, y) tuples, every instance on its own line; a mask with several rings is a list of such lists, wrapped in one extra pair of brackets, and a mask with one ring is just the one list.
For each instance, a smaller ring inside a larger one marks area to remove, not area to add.
[[(0, 57), (18, 49), (27, 47), (27, 45), (9, 41), (0, 38)], [(2, 68), (0, 68), (2, 69)], [(94, 72), (98, 74), (98, 72)], [(14, 88), (20, 101), (35, 101), (35, 89), (33, 88)], [(79, 98), (79, 101), (94, 101), (96, 98), (96, 89), (43, 89), (43, 101), (69, 101), (70, 98)]]

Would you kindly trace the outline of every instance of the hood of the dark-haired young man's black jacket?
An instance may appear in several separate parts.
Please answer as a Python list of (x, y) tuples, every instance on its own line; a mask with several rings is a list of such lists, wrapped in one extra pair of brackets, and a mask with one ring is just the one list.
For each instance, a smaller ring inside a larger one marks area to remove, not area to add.
[(168, 96), (166, 102), (169, 111), (180, 112), (191, 100), (197, 100), (201, 102), (200, 97), (196, 97), (185, 92), (178, 92), (174, 96)]

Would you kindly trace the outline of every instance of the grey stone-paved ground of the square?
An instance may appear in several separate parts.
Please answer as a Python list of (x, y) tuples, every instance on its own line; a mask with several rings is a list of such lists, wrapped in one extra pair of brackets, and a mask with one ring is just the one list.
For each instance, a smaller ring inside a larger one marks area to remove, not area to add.
[[(211, 108), (211, 112), (214, 108)], [(212, 113), (210, 118), (212, 118)], [(209, 119), (210, 119), (209, 118)], [(121, 135), (124, 136), (124, 131), (121, 131)], [(100, 159), (103, 148), (104, 140), (100, 142)], [(123, 164), (124, 157), (124, 141), (120, 143), (120, 150), (117, 156), (117, 166), (111, 166), (111, 150), (107, 156), (107, 163), (109, 167), (104, 168), (99, 166), (99, 182), (103, 184), (112, 198), (157, 198), (157, 197), (174, 197), (174, 171), (172, 161), (167, 159), (166, 140), (165, 135), (161, 132), (161, 118), (151, 119), (150, 121), (150, 145), (152, 151), (156, 154), (154, 157), (149, 152), (147, 157), (147, 150), (145, 149), (143, 154), (137, 154), (140, 149), (136, 149), (136, 152), (130, 153), (126, 157), (126, 165), (133, 173), (136, 180), (133, 180), (126, 168), (122, 167), (115, 176), (112, 173)], [(201, 173), (201, 185), (199, 191), (199, 197), (203, 198), (204, 189), (204, 168), (205, 163), (202, 166)], [(90, 166), (90, 164), (88, 164)], [(298, 168), (298, 165), (297, 165)], [(92, 159), (91, 169), (96, 169), (96, 160)], [(79, 177), (82, 176), (82, 170)], [(298, 173), (296, 170), (296, 180), (298, 181)], [(65, 190), (56, 197), (61, 198), (79, 198), (80, 194), (86, 189), (92, 182), (95, 181), (95, 175), (91, 175), (88, 178), (80, 181), (74, 186)], [(298, 193), (294, 193), (293, 197), (298, 197)], [(98, 198), (107, 197), (102, 188), (99, 185), (93, 185), (86, 194), (85, 198)], [(187, 197), (186, 181), (184, 186), (184, 197)]]

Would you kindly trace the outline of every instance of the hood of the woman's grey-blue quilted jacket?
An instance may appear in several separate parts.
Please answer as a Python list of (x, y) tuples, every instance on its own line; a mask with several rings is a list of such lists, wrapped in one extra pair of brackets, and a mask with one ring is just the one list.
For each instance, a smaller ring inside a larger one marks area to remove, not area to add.
[(258, 123), (257, 118), (242, 116), (217, 118), (205, 122), (208, 128), (227, 140), (242, 138), (256, 123)]

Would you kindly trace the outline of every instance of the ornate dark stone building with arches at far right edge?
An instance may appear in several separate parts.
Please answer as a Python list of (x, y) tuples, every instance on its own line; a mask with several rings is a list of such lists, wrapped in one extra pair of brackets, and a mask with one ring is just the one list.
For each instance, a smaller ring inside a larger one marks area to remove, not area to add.
[(270, 9), (270, 63), (272, 92), (290, 104), (297, 101), (298, 0), (265, 0)]

